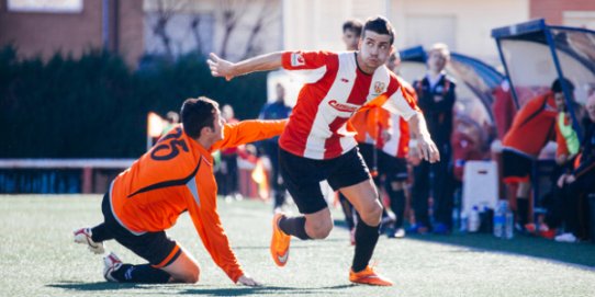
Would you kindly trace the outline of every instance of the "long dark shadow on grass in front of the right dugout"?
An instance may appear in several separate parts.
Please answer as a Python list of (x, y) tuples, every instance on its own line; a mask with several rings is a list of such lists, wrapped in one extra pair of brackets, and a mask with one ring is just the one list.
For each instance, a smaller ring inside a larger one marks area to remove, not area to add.
[(504, 240), (487, 233), (412, 235), (407, 236), (407, 239), (527, 255), (595, 270), (595, 244), (590, 242), (571, 244), (528, 236), (515, 236), (512, 240)]

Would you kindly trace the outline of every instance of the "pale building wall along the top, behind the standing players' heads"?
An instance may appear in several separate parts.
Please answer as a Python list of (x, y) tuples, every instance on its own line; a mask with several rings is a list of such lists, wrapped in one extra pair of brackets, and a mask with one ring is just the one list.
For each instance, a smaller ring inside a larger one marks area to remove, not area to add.
[(397, 48), (446, 42), (497, 64), (491, 30), (527, 21), (529, 0), (284, 0), (284, 48), (343, 50), (343, 22), (378, 14), (393, 23)]

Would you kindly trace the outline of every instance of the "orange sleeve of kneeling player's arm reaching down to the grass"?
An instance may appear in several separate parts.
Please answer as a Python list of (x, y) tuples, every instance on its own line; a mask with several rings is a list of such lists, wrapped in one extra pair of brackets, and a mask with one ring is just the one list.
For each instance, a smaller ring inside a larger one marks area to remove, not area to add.
[[(200, 178), (212, 179), (212, 176)], [(209, 251), (215, 264), (236, 283), (244, 275), (244, 271), (229, 245), (229, 240), (221, 224), (217, 214), (216, 194), (214, 194), (214, 197), (201, 198), (200, 206), (194, 201), (189, 202), (188, 205), (188, 212), (202, 239), (204, 248)]]

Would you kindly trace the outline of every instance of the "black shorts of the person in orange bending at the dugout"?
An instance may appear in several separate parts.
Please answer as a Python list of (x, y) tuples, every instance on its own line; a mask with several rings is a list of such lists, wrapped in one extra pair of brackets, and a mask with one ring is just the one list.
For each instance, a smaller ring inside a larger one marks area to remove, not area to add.
[(506, 183), (529, 182), (534, 160), (520, 152), (502, 150), (502, 175)]

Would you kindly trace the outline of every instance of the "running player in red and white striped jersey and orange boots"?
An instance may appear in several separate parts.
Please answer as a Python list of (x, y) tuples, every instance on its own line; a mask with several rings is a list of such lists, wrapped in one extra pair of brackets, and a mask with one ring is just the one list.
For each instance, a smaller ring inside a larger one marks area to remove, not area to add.
[(324, 239), (333, 229), (330, 210), (319, 187), (319, 182), (327, 180), (359, 213), (349, 281), (392, 285), (368, 265), (379, 238), (382, 205), (347, 121), (361, 108), (383, 105), (409, 122), (425, 160), (440, 159), (415, 101), (384, 66), (394, 52), (393, 42), (392, 25), (378, 16), (366, 22), (357, 52), (271, 53), (235, 64), (211, 54), (207, 62), (212, 75), (227, 80), (279, 67), (307, 72), (307, 83), (279, 138), (281, 174), (302, 214), (289, 217), (279, 213), (273, 218), (271, 255), (279, 266), (289, 259), (291, 236)]

